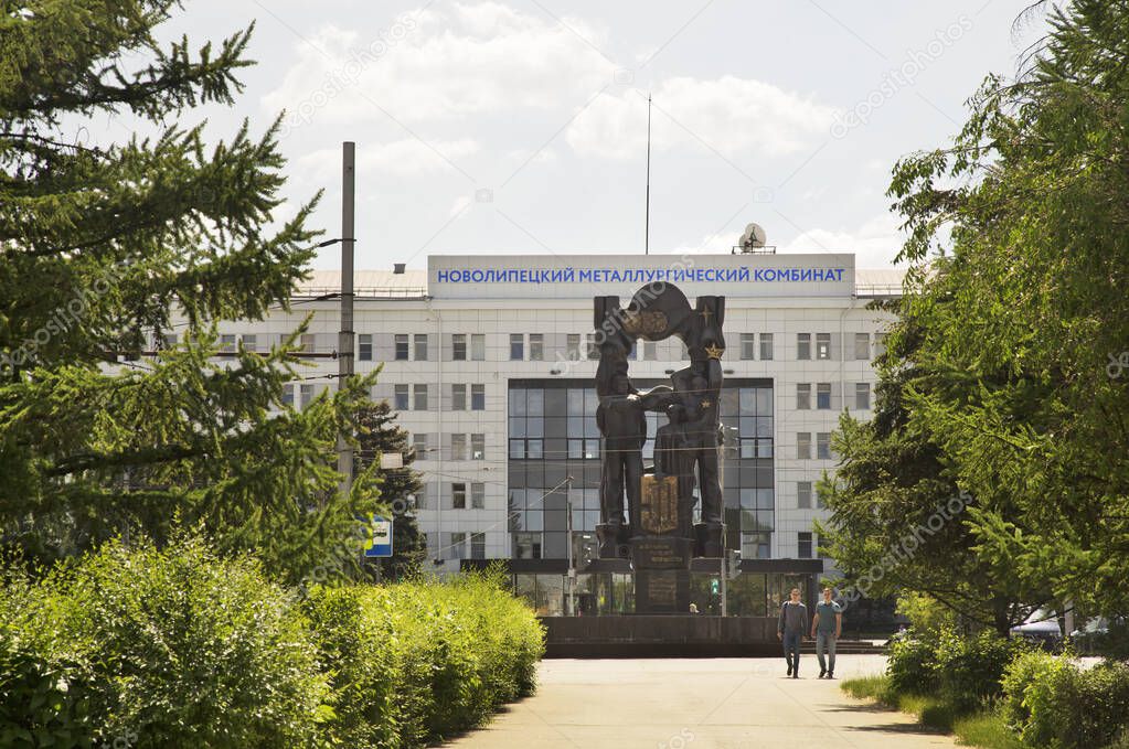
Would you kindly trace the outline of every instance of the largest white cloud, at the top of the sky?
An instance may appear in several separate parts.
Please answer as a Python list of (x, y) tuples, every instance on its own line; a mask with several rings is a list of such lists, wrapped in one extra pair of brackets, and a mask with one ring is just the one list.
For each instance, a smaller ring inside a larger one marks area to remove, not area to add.
[(481, 2), (430, 6), (386, 28), (331, 24), (298, 45), (298, 59), (262, 103), (300, 124), (383, 118), (374, 102), (404, 122), (554, 109), (590, 96), (614, 72), (577, 36), (599, 45), (604, 34), (562, 20)]

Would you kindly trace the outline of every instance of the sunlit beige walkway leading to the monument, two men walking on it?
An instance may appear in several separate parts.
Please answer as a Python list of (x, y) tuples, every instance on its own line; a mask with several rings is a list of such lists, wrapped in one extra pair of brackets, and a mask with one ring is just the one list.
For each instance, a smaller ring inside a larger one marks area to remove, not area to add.
[(784, 658), (551, 660), (537, 694), (450, 747), (466, 749), (759, 749), (953, 747), (901, 713), (870, 707), (839, 680), (879, 673), (882, 655), (840, 655), (835, 681), (799, 679)]

